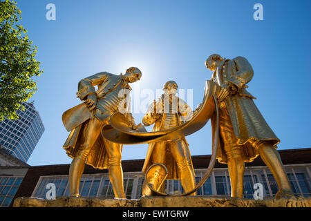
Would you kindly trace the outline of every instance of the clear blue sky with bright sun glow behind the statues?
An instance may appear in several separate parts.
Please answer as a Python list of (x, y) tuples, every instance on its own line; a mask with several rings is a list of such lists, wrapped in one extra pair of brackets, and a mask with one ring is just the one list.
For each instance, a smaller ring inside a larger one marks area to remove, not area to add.
[[(56, 6), (55, 21), (46, 20), (48, 3)], [(255, 3), (263, 5), (263, 21), (253, 19)], [(249, 92), (281, 139), (280, 150), (311, 146), (311, 1), (19, 0), (17, 6), (44, 69), (30, 99), (46, 128), (32, 166), (71, 162), (62, 148), (68, 136), (62, 113), (79, 104), (80, 79), (136, 66), (142, 79), (133, 93), (172, 79), (193, 90), (195, 108), (211, 77), (205, 59), (212, 53), (252, 64)], [(137, 123), (142, 116), (134, 113)], [(211, 154), (210, 123), (187, 141), (191, 155)], [(143, 159), (147, 146), (124, 146), (122, 159)]]

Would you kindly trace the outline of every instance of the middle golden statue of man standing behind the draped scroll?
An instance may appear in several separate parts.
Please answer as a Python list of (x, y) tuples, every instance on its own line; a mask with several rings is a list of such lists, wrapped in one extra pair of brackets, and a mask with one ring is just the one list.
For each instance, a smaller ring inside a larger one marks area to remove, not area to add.
[[(163, 131), (179, 126), (189, 117), (192, 117), (191, 108), (185, 101), (176, 96), (177, 88), (175, 81), (167, 81), (163, 88), (164, 94), (161, 95), (158, 102), (154, 101), (149, 106), (149, 111), (144, 115), (142, 119), (144, 126), (154, 123), (153, 131)], [(142, 172), (146, 174), (150, 166), (154, 164), (164, 164), (168, 169), (167, 179), (180, 180), (185, 192), (194, 189), (196, 176), (185, 137), (149, 144)], [(156, 173), (151, 175), (154, 179), (151, 179), (150, 184), (153, 189), (159, 189), (163, 192), (164, 182), (157, 180), (159, 175)], [(147, 182), (144, 182), (142, 195), (151, 194)]]

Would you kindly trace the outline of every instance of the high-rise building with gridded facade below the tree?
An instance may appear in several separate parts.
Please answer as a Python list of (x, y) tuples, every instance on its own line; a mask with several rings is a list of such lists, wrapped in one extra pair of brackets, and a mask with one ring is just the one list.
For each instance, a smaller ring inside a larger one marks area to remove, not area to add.
[(0, 144), (8, 153), (27, 162), (39, 139), (44, 125), (33, 102), (24, 102), (25, 111), (17, 111), (19, 119), (0, 122)]

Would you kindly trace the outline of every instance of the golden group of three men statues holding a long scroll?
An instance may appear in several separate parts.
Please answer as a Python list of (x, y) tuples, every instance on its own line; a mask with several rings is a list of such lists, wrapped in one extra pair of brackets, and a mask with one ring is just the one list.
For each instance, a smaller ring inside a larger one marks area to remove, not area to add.
[[(147, 132), (142, 124), (135, 124), (127, 104), (129, 93), (120, 93), (131, 90), (129, 83), (142, 77), (138, 68), (129, 68), (124, 75), (97, 73), (79, 81), (77, 97), (83, 103), (70, 108), (62, 117), (70, 131), (64, 149), (73, 158), (69, 170), (70, 196), (79, 197), (79, 181), (85, 164), (89, 164), (97, 169), (109, 169), (115, 198), (126, 198), (122, 145), (143, 143), (149, 143), (149, 148), (142, 168), (145, 174), (142, 195), (167, 195), (166, 179), (180, 180), (184, 195), (196, 195), (213, 169), (213, 159), (217, 159), (228, 165), (231, 196), (243, 198), (245, 162), (252, 162), (260, 155), (278, 184), (276, 198), (293, 196), (276, 151), (280, 140), (258, 111), (253, 102), (256, 98), (245, 89), (253, 77), (252, 66), (244, 57), (225, 59), (216, 54), (210, 55), (205, 64), (213, 74), (207, 81), (203, 102), (192, 111), (176, 96), (176, 81), (167, 81), (164, 93), (150, 104), (142, 119), (144, 126), (154, 124), (152, 132)], [(196, 184), (185, 137), (198, 131), (209, 119), (213, 133), (212, 157), (205, 179)]]

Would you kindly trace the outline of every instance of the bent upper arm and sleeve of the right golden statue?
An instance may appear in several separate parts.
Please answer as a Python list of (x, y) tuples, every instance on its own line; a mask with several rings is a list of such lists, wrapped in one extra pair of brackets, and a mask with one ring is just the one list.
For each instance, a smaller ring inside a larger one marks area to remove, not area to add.
[(233, 60), (237, 71), (234, 74), (234, 77), (229, 79), (228, 82), (234, 84), (238, 90), (241, 90), (245, 88), (245, 85), (252, 79), (254, 71), (245, 57), (238, 56)]

